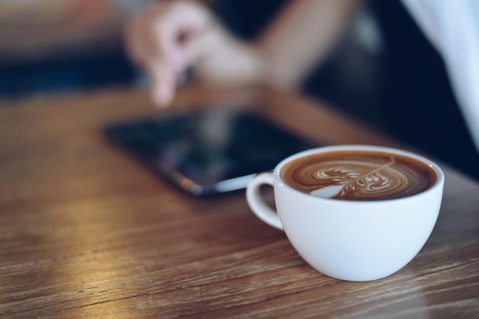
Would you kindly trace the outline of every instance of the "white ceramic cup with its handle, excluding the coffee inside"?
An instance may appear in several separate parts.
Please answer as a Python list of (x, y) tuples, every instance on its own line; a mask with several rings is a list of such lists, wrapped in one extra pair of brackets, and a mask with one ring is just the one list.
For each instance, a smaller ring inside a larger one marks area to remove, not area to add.
[[(286, 185), (281, 168), (303, 156), (330, 151), (379, 151), (419, 160), (436, 172), (428, 190), (398, 199), (349, 201), (314, 197)], [(272, 185), (277, 214), (261, 198), (259, 187)], [(341, 145), (311, 149), (281, 161), (274, 171), (256, 175), (246, 189), (251, 210), (266, 224), (284, 230), (306, 262), (338, 279), (367, 281), (389, 276), (421, 250), (438, 217), (444, 174), (432, 161), (393, 148)]]

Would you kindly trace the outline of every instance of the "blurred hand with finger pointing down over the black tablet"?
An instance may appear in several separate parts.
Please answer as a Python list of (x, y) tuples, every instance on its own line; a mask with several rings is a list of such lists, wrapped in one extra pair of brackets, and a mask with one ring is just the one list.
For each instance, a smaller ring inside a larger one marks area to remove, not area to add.
[(232, 84), (260, 78), (257, 52), (229, 35), (201, 3), (161, 1), (127, 27), (127, 48), (145, 68), (157, 105), (168, 105), (178, 78), (191, 65), (205, 80)]

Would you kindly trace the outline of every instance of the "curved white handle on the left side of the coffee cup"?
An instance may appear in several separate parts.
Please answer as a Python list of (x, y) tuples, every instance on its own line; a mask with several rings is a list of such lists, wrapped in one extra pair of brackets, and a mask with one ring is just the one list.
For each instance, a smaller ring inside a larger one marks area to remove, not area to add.
[(278, 214), (272, 210), (261, 197), (259, 187), (261, 185), (273, 186), (273, 173), (264, 172), (256, 175), (246, 188), (246, 200), (249, 208), (263, 222), (271, 227), (283, 230)]

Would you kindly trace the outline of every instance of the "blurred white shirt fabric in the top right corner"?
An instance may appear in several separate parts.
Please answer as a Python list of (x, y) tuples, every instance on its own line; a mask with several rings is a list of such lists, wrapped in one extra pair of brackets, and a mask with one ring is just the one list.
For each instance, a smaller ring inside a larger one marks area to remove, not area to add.
[(439, 51), (479, 150), (479, 0), (402, 0)]

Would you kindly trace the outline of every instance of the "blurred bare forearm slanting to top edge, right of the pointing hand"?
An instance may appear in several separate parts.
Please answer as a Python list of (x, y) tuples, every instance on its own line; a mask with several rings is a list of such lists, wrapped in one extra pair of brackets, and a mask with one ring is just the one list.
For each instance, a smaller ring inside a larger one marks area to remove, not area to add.
[(361, 0), (292, 0), (260, 35), (269, 80), (296, 86), (321, 61)]

